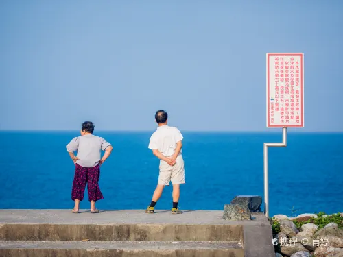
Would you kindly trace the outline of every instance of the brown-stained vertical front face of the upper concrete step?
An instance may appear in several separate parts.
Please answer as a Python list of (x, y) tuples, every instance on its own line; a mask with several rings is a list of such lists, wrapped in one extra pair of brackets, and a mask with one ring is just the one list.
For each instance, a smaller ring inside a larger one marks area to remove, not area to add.
[(3, 224), (0, 240), (22, 241), (242, 241), (242, 225)]

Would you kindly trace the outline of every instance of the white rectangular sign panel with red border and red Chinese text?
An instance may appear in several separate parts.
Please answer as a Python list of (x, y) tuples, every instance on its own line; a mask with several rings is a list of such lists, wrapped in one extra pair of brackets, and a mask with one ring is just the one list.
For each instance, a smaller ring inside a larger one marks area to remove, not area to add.
[(304, 127), (303, 53), (267, 53), (267, 127)]

